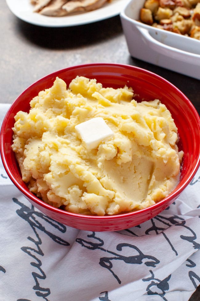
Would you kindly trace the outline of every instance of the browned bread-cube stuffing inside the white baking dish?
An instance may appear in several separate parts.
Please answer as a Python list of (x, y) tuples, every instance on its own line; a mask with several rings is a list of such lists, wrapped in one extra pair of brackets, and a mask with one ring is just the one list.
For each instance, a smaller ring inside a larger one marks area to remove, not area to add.
[(200, 0), (146, 0), (140, 21), (200, 40)]

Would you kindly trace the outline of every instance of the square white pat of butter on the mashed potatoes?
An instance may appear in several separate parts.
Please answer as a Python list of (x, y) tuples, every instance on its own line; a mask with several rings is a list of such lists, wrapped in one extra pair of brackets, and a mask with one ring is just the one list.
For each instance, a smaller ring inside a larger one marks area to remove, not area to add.
[(114, 136), (114, 132), (102, 117), (95, 117), (79, 123), (75, 126), (75, 130), (88, 149), (96, 148), (102, 140)]

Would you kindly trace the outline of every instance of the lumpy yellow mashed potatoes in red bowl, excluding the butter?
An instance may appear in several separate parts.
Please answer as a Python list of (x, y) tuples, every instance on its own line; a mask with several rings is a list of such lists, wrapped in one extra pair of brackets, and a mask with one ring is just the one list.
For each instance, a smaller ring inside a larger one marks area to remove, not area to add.
[[(170, 112), (158, 99), (103, 88), (95, 79), (56, 78), (15, 116), (13, 151), (31, 192), (54, 207), (114, 215), (148, 207), (179, 181), (182, 152)], [(75, 126), (102, 117), (114, 136), (87, 149)]]

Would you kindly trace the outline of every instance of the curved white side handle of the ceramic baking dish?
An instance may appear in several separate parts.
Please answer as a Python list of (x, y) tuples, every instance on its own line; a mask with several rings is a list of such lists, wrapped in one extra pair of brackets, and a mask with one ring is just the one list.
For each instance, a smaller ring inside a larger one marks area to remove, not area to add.
[(194, 58), (196, 59), (195, 64), (200, 65), (199, 55), (191, 52), (187, 52), (181, 49), (177, 49), (166, 44), (159, 42), (158, 40), (154, 39), (151, 35), (149, 30), (146, 28), (142, 28), (137, 26), (138, 30), (141, 32), (142, 36), (145, 38), (146, 43), (148, 46), (153, 49), (156, 53), (164, 54), (166, 56), (170, 56), (173, 59), (178, 61), (185, 61), (187, 63), (194, 64)]

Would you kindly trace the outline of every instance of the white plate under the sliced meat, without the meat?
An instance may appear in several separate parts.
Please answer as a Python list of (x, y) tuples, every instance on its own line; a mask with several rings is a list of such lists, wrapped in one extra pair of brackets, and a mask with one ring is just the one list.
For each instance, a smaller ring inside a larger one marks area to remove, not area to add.
[(97, 10), (66, 17), (47, 17), (34, 13), (30, 0), (6, 0), (12, 13), (25, 22), (45, 27), (67, 27), (97, 22), (118, 15), (127, 0), (112, 0)]

